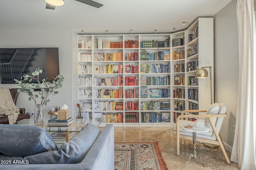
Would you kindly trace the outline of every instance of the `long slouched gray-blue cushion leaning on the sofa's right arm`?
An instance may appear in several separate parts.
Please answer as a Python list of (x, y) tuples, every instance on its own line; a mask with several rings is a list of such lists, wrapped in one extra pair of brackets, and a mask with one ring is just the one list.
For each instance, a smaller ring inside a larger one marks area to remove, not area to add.
[(100, 134), (100, 129), (88, 123), (70, 141), (64, 143), (59, 150), (38, 153), (25, 157), (0, 155), (0, 160), (20, 160), (29, 164), (76, 164), (80, 163)]

